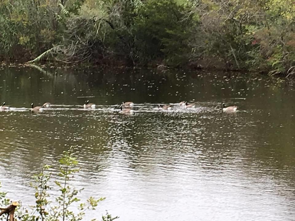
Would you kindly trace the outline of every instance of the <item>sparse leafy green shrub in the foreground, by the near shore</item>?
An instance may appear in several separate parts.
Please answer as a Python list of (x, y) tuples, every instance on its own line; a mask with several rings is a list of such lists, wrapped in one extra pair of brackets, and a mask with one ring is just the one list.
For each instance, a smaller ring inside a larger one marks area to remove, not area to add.
[[(105, 198), (94, 199), (92, 196), (84, 203), (79, 203), (78, 198), (82, 189), (76, 189), (70, 185), (70, 180), (79, 172), (78, 161), (72, 148), (64, 151), (62, 157), (59, 159), (58, 179), (54, 181), (55, 186), (51, 186), (53, 168), (49, 165), (42, 167), (41, 172), (35, 176), (31, 187), (35, 189), (35, 205), (30, 209), (21, 208), (15, 213), (15, 220), (22, 221), (49, 221), (49, 220), (82, 220), (88, 210), (95, 210), (100, 201)], [(57, 190), (56, 190), (57, 188)], [(55, 190), (60, 194), (55, 197), (55, 202), (50, 201), (53, 196), (50, 191)], [(2, 205), (10, 204), (10, 200), (5, 198), (6, 193), (0, 192), (0, 200)], [(77, 204), (77, 213), (72, 209)], [(102, 216), (102, 220), (114, 220), (118, 217), (112, 218), (110, 214)], [(92, 219), (96, 220), (96, 219)]]

